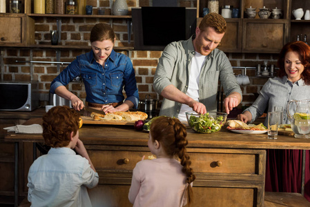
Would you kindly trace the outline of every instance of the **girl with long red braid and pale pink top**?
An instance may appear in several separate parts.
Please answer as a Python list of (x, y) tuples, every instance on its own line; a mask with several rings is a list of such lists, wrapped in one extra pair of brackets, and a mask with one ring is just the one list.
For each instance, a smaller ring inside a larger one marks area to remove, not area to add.
[(179, 119), (158, 117), (153, 121), (148, 148), (157, 159), (143, 157), (133, 169), (128, 198), (134, 207), (191, 204), (195, 175), (186, 152), (186, 135)]

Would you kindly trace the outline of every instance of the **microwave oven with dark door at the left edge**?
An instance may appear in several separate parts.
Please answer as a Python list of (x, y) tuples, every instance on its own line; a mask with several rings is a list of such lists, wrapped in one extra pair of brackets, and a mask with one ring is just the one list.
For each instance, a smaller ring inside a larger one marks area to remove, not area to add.
[(39, 107), (39, 82), (0, 81), (0, 110), (32, 111)]

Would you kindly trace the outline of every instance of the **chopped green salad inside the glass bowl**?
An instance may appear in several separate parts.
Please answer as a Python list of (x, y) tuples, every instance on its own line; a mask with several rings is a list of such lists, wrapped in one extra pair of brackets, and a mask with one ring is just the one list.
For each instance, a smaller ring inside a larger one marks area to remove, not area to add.
[(189, 117), (189, 126), (196, 132), (208, 134), (212, 132), (218, 132), (222, 128), (224, 117), (210, 117), (209, 112), (204, 115)]

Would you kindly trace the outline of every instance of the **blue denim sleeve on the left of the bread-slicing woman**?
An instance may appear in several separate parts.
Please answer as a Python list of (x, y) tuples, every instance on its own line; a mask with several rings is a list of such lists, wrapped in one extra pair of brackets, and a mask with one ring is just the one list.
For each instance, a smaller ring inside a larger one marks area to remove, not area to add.
[(55, 94), (56, 88), (68, 85), (70, 81), (79, 75), (81, 75), (81, 70), (78, 60), (75, 59), (52, 81), (52, 83), (50, 83), (50, 92)]

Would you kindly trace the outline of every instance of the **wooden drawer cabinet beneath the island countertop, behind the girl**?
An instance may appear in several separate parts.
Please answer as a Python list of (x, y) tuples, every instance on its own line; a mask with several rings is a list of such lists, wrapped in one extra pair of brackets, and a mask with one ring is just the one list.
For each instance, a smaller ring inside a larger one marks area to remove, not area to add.
[[(88, 190), (95, 204), (132, 206), (128, 201), (132, 170), (144, 146), (86, 145), (99, 174), (99, 185)], [(187, 148), (195, 170), (193, 206), (262, 206), (264, 200), (265, 150)], [(218, 198), (221, 195), (222, 198)], [(237, 199), (236, 197), (242, 197)], [(216, 198), (216, 199), (215, 199)], [(206, 200), (208, 203), (206, 203)]]

